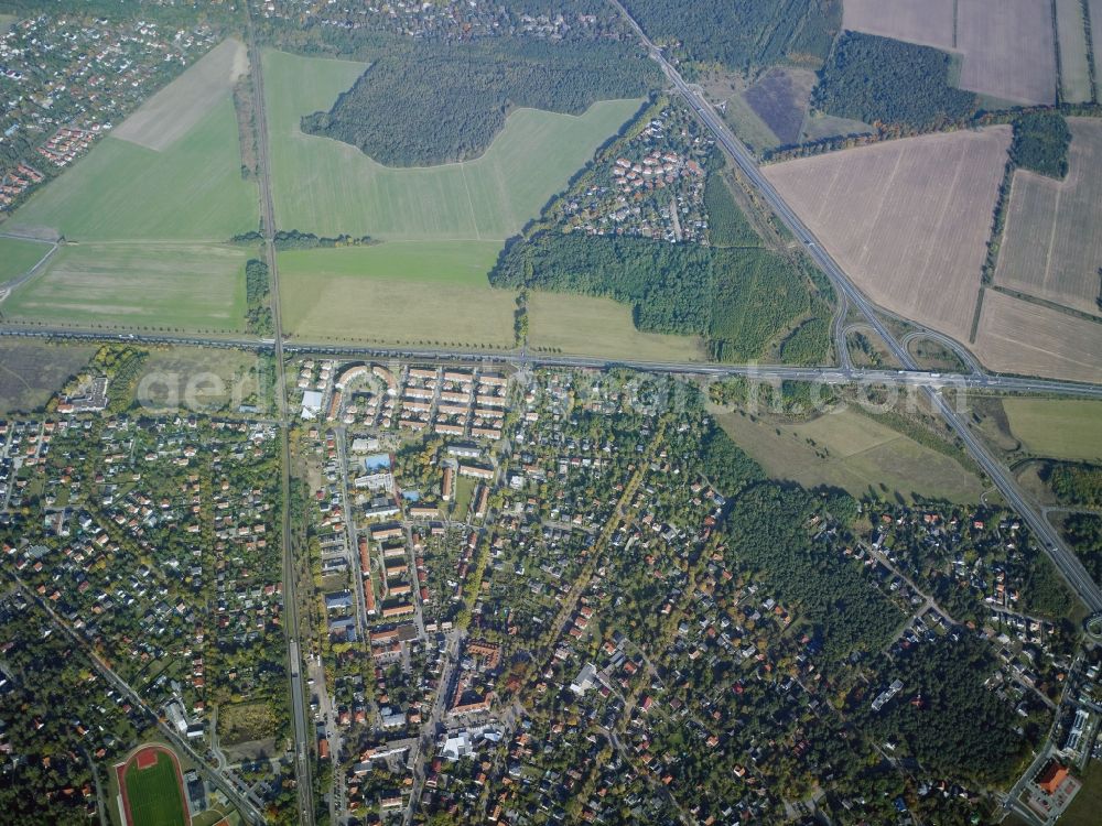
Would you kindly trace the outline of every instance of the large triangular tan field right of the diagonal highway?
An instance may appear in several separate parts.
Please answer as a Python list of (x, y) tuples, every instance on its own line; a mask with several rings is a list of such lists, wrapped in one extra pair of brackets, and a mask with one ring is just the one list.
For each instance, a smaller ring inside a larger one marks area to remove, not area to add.
[(764, 172), (869, 298), (966, 340), (1009, 142), (929, 134)]

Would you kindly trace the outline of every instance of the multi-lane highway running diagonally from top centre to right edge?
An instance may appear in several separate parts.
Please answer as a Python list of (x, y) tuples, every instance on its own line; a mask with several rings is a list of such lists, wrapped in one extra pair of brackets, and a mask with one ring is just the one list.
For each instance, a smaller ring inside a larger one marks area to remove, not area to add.
[[(670, 65), (662, 55), (661, 50), (651, 43), (646, 32), (631, 18), (627, 9), (620, 4), (619, 0), (609, 0), (609, 2), (619, 10), (620, 14), (624, 15), (636, 31), (647, 47), (650, 57), (662, 68), (662, 72), (673, 84), (674, 88), (693, 108), (696, 116), (712, 132), (719, 144), (726, 150), (742, 173), (749, 180), (761, 197), (765, 198), (766, 203), (769, 204), (777, 217), (785, 222), (797, 240), (806, 247), (808, 254), (831, 280), (834, 289), (843, 300), (861, 312), (869, 326), (887, 345), (892, 355), (903, 365), (905, 371), (917, 371), (918, 367), (907, 348), (888, 332), (880, 317), (876, 314), (873, 304), (850, 281), (845, 272), (842, 271), (842, 268), (823, 249), (811, 230), (803, 225), (803, 221), (785, 203), (777, 191), (774, 189), (765, 175), (761, 174), (749, 150), (735, 138), (734, 133), (732, 133), (720, 116), (716, 115), (711, 105), (689, 87), (680, 73)], [(941, 389), (931, 387), (929, 383), (923, 384), (922, 389), (929, 395), (934, 410), (946, 420), (957, 435), (961, 437), (969, 453), (972, 454), (980, 467), (987, 474), (1006, 501), (1018, 512), (1026, 524), (1029, 525), (1029, 529), (1034, 532), (1038, 542), (1040, 542), (1041, 547), (1044, 547), (1068, 584), (1079, 595), (1079, 598), (1082, 599), (1091, 611), (1102, 611), (1102, 588), (1091, 579), (1074, 552), (1065, 545), (1057, 531), (1048, 523), (1048, 520), (1025, 500), (1006, 470), (969, 430), (966, 421), (946, 402), (942, 398)]]

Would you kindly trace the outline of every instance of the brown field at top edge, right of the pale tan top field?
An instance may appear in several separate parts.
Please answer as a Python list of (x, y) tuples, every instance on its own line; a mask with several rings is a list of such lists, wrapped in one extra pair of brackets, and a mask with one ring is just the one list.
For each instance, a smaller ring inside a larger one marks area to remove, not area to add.
[(961, 88), (1022, 104), (1056, 100), (1049, 0), (958, 0)]

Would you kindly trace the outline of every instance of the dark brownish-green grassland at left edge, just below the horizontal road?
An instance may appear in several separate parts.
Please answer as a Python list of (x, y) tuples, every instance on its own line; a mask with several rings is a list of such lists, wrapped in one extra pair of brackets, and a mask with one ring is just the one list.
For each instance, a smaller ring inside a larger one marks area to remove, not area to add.
[(95, 346), (0, 339), (0, 414), (43, 406), (95, 354)]

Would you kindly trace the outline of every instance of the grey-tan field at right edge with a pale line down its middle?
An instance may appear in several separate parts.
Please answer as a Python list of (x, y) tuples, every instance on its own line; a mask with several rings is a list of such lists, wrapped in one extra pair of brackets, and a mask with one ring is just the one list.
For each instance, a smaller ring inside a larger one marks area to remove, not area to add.
[(1102, 268), (1102, 121), (1069, 118), (1068, 177), (1014, 173), (995, 283), (1099, 313)]

